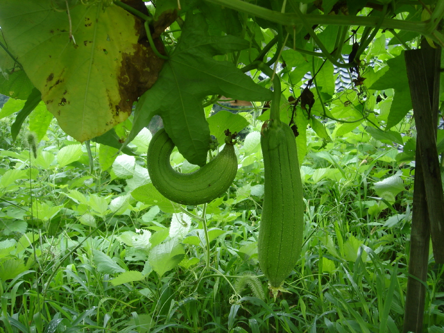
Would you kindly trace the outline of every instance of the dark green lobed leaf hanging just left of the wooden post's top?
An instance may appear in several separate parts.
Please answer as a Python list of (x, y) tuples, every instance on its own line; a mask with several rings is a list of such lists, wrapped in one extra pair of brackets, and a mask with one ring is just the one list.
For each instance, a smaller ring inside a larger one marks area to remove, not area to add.
[(399, 56), (387, 60), (387, 65), (389, 70), (374, 82), (369, 89), (395, 89), (395, 96), (387, 118), (386, 128), (390, 129), (405, 117), (412, 106), (404, 51)]

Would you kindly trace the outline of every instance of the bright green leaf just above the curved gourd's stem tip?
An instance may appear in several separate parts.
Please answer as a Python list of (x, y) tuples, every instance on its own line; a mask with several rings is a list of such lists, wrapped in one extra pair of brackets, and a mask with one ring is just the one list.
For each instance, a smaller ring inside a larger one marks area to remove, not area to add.
[(226, 129), (229, 129), (231, 133), (239, 133), (248, 126), (248, 121), (243, 116), (225, 110), (221, 110), (215, 115), (208, 117), (207, 122), (210, 127), (210, 134), (218, 139), (220, 146), (225, 143)]

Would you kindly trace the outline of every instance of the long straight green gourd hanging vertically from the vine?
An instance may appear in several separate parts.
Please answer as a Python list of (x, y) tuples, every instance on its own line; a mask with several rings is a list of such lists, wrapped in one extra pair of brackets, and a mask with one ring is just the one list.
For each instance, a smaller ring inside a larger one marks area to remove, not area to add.
[(295, 267), (302, 246), (302, 182), (295, 135), (270, 120), (260, 139), (264, 199), (259, 225), (259, 266), (272, 287), (280, 287)]

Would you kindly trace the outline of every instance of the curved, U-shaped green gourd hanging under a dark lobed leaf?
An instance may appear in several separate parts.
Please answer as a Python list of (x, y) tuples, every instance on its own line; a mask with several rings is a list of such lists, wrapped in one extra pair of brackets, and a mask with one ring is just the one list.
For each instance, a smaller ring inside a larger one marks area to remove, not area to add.
[(174, 143), (164, 129), (151, 139), (148, 147), (148, 174), (154, 187), (167, 199), (183, 205), (200, 205), (220, 196), (233, 183), (237, 173), (234, 145), (225, 147), (200, 169), (183, 174), (173, 169), (170, 155)]

